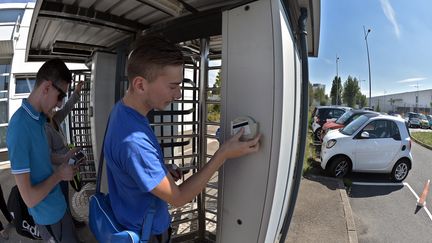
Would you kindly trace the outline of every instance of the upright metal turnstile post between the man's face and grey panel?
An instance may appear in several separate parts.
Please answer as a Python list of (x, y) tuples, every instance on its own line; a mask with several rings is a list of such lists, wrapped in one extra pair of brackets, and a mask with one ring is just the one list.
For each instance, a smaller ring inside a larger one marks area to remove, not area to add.
[[(207, 163), (207, 86), (208, 86), (208, 55), (209, 40), (201, 39), (201, 59), (199, 66), (199, 141), (198, 148), (198, 168), (201, 169)], [(204, 192), (204, 191), (203, 191)], [(204, 193), (198, 195), (198, 239), (202, 242), (205, 237), (205, 197)]]

